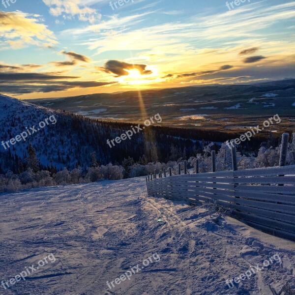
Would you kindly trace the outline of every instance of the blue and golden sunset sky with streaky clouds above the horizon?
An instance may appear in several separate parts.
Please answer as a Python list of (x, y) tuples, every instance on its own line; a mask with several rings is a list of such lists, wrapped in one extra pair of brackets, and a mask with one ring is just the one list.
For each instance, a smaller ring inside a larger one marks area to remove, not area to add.
[(292, 0), (0, 1), (9, 96), (295, 78)]

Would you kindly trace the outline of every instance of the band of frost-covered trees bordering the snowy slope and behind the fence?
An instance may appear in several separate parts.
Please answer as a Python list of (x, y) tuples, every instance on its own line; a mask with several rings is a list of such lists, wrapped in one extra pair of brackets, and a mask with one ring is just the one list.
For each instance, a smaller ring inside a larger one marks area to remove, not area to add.
[[(254, 154), (242, 154), (237, 152), (238, 169), (250, 168), (264, 168), (278, 166), (280, 159), (280, 145), (271, 146), (271, 141), (268, 140), (259, 148), (257, 156)], [(168, 152), (170, 160), (166, 163), (162, 162), (148, 162), (145, 155), (135, 161), (132, 157), (125, 158), (120, 165), (100, 165), (97, 161), (96, 153), (90, 154), (90, 166), (82, 169), (81, 167), (74, 168), (69, 171), (63, 168), (57, 171), (52, 165), (47, 170), (41, 169), (39, 160), (36, 156), (36, 151), (32, 146), (28, 149), (28, 158), (25, 161), (25, 171), (19, 174), (14, 174), (9, 171), (5, 175), (0, 175), (0, 192), (14, 192), (27, 188), (36, 188), (44, 186), (55, 186), (65, 184), (77, 184), (100, 181), (104, 179), (122, 179), (129, 177), (147, 176), (163, 171), (164, 168), (168, 170), (172, 168), (173, 174), (178, 173), (178, 163), (181, 163), (182, 170), (183, 160), (188, 160), (188, 168), (193, 168), (196, 163), (196, 158), (199, 160), (199, 171), (211, 171), (211, 150), (215, 148), (213, 143), (204, 146), (200, 153), (194, 156), (187, 157), (185, 152), (182, 152), (174, 145)], [(180, 157), (179, 157), (180, 156)], [(177, 158), (179, 157), (179, 158)], [(177, 158), (177, 160), (173, 160)], [(295, 165), (295, 132), (292, 135), (291, 141), (288, 145), (287, 164)], [(232, 169), (232, 155), (231, 149), (222, 144), (216, 153), (216, 168), (217, 171)]]

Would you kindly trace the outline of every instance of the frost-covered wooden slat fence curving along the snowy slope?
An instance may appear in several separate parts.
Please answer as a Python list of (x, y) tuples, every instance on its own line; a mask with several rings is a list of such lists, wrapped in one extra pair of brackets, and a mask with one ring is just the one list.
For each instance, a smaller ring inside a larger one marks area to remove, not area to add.
[(253, 227), (295, 240), (295, 165), (160, 177), (147, 186), (150, 196), (216, 204)]

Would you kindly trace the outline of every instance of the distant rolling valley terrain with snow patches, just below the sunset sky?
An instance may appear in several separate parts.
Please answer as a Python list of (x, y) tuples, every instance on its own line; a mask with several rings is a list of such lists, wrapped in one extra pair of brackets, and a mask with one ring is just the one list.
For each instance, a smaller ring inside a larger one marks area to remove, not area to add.
[[(141, 98), (140, 98), (141, 97)], [(278, 132), (295, 128), (295, 79), (255, 85), (203, 86), (98, 93), (30, 103), (89, 118), (143, 122), (157, 113), (161, 124), (240, 132), (278, 114)], [(141, 106), (146, 113), (141, 114)]]

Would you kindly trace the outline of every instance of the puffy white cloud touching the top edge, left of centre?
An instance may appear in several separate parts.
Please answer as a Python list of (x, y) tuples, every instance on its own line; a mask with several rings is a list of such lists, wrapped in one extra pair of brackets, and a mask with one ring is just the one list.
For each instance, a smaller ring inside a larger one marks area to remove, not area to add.
[(50, 14), (56, 17), (62, 15), (64, 19), (71, 19), (72, 16), (78, 16), (80, 21), (91, 24), (101, 18), (100, 13), (86, 6), (82, 0), (43, 0), (43, 2), (50, 7)]

